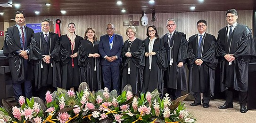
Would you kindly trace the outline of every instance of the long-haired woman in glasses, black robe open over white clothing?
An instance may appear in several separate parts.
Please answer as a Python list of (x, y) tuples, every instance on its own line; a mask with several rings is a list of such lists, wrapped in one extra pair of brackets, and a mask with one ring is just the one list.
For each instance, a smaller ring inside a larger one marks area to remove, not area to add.
[(159, 38), (157, 28), (149, 25), (147, 29), (148, 38), (143, 40), (145, 45), (145, 70), (144, 70), (144, 88), (145, 91), (154, 91), (155, 89), (163, 96), (164, 90), (164, 70), (168, 66), (166, 50), (163, 39)]

